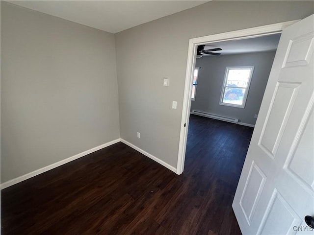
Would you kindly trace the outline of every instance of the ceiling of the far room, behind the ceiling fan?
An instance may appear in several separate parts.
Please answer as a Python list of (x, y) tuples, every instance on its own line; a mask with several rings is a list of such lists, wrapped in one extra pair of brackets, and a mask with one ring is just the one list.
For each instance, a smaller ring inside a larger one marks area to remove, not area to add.
[[(281, 34), (278, 33), (278, 34), (272, 34), (272, 35), (256, 37), (256, 38), (204, 44), (206, 45), (204, 47), (204, 50), (220, 47), (222, 50), (212, 51), (212, 52), (221, 53), (221, 55), (274, 51), (277, 49), (280, 35)], [(204, 56), (210, 56), (210, 55), (204, 55)]]

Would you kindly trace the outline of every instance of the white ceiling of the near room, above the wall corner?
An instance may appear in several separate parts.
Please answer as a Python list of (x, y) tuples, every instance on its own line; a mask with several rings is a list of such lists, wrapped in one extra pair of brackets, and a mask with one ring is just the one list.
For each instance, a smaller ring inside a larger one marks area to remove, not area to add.
[(10, 0), (8, 2), (117, 33), (198, 6), (208, 0)]

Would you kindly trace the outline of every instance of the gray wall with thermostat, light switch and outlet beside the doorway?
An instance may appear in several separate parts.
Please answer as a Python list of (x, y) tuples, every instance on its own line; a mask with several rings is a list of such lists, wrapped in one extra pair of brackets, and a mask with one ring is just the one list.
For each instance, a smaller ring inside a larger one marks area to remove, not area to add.
[(313, 12), (313, 1), (210, 1), (115, 34), (121, 138), (176, 167), (189, 39)]

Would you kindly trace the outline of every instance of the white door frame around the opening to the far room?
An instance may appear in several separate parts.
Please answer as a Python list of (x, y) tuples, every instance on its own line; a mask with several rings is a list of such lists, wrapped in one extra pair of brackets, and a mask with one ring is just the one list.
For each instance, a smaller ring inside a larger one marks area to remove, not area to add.
[(235, 39), (246, 39), (254, 38), (259, 36), (271, 35), (280, 33), (284, 28), (291, 24), (294, 24), (300, 20), (287, 21), (276, 24), (268, 24), (253, 28), (246, 28), (236, 31), (230, 31), (225, 33), (213, 34), (198, 38), (192, 38), (189, 40), (188, 53), (187, 53), (187, 65), (185, 73), (185, 84), (184, 84), (184, 95), (183, 95), (183, 108), (181, 116), (181, 128), (180, 128), (180, 139), (179, 139), (179, 152), (177, 162), (177, 174), (183, 173), (184, 161), (185, 161), (185, 150), (187, 141), (187, 132), (191, 108), (191, 92), (193, 82), (193, 71), (196, 63), (196, 50), (197, 46), (207, 43), (230, 41)]

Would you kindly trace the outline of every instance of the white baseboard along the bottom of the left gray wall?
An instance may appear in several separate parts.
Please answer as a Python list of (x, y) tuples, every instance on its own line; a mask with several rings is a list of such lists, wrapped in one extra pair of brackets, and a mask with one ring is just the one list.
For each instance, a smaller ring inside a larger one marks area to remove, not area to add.
[(110, 141), (110, 142), (107, 142), (107, 143), (98, 145), (98, 146), (96, 146), (96, 147), (94, 147), (94, 148), (88, 149), (88, 150), (86, 150), (86, 151), (84, 151), (84, 152), (81, 152), (81, 153), (79, 153), (79, 154), (76, 154), (76, 155), (74, 155), (74, 156), (72, 156), (72, 157), (69, 157), (69, 158), (67, 158), (67, 159), (64, 159), (64, 160), (61, 160), (61, 161), (59, 161), (59, 162), (56, 162), (56, 163), (53, 163), (53, 164), (44, 166), (44, 167), (42, 167), (42, 168), (40, 168), (40, 169), (34, 170), (34, 171), (32, 171), (32, 172), (29, 172), (29, 173), (27, 173), (27, 174), (25, 174), (25, 175), (22, 175), (22, 176), (19, 176), (19, 177), (15, 178), (15, 179), (6, 181), (6, 182), (4, 182), (4, 183), (1, 184), (1, 189), (3, 189), (3, 188), (8, 188), (8, 187), (10, 187), (10, 186), (12, 186), (12, 185), (15, 185), (15, 184), (17, 184), (17, 183), (20, 183), (20, 182), (22, 182), (22, 181), (24, 181), (24, 180), (27, 180), (27, 179), (31, 178), (31, 177), (34, 177), (34, 176), (39, 175), (39, 174), (41, 174), (41, 173), (44, 173), (44, 172), (46, 172), (46, 171), (48, 171), (48, 170), (51, 170), (51, 169), (53, 169), (53, 168), (56, 168), (56, 167), (58, 167), (58, 166), (60, 166), (60, 165), (69, 163), (69, 162), (71, 162), (71, 161), (73, 161), (73, 160), (76, 160), (76, 159), (78, 159), (78, 158), (84, 157), (84, 156), (86, 156), (87, 154), (96, 152), (97, 150), (100, 150), (100, 149), (102, 149), (102, 148), (105, 148), (105, 147), (107, 147), (107, 146), (110, 146), (110, 145), (112, 145), (112, 144), (114, 144), (114, 143), (118, 143), (118, 142), (120, 142), (120, 141), (121, 141), (121, 139), (119, 138), (119, 139), (116, 139), (116, 140), (113, 140), (113, 141)]

